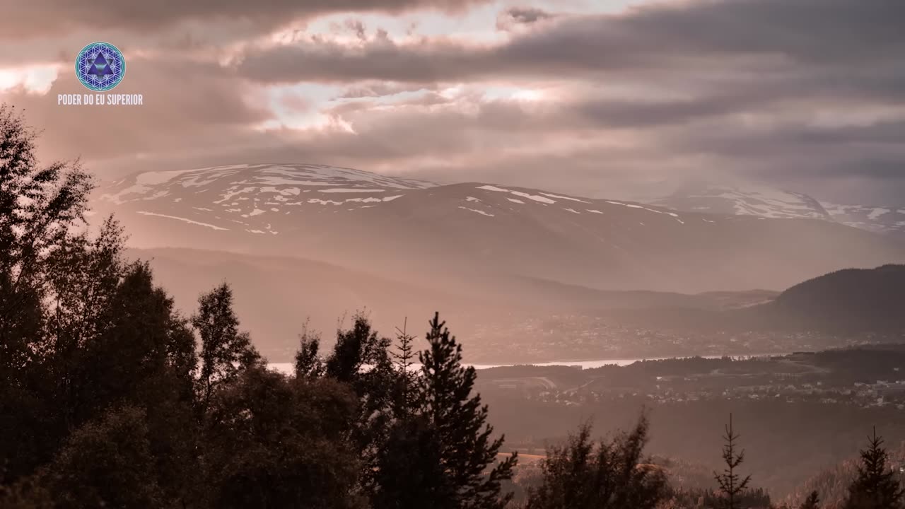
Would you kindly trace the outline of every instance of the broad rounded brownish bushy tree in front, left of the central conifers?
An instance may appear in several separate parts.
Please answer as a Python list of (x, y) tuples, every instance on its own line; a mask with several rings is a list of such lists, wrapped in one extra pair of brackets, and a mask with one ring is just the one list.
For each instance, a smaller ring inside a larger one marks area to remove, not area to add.
[(357, 401), (344, 384), (255, 366), (214, 393), (210, 412), (210, 506), (359, 506)]

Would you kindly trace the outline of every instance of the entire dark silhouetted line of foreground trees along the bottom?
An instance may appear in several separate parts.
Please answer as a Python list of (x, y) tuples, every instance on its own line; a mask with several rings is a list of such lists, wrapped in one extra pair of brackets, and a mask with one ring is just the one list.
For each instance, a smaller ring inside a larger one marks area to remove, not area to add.
[[(0, 107), (2, 507), (769, 505), (739, 480), (731, 429), (720, 489), (673, 489), (643, 454), (644, 415), (610, 440), (580, 428), (513, 485), (517, 457), (499, 454), (476, 372), (438, 315), (422, 351), (359, 315), (329, 349), (302, 334), (292, 375), (268, 370), (227, 284), (182, 316), (148, 264), (125, 259), (112, 217), (89, 235), (89, 175), (40, 167), (34, 149), (33, 130)], [(885, 454), (874, 437), (846, 509), (900, 507)]]

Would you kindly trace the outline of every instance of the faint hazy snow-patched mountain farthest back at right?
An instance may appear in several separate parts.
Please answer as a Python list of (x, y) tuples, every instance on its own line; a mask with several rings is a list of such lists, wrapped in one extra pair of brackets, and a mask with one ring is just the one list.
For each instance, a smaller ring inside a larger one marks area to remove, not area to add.
[(691, 183), (652, 205), (711, 214), (824, 219), (878, 234), (905, 238), (905, 206), (840, 205), (752, 183)]

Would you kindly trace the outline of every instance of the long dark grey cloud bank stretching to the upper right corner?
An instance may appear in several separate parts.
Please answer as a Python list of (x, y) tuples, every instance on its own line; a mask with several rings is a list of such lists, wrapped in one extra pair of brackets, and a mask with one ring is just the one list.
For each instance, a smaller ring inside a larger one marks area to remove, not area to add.
[[(520, 19), (547, 14), (510, 10)], [(532, 14), (533, 13), (533, 14)], [(890, 0), (724, 0), (654, 5), (628, 14), (562, 16), (483, 47), (425, 39), (323, 40), (249, 53), (261, 81), (470, 80), (608, 72), (785, 71), (793, 64), (900, 62), (905, 3)], [(751, 75), (757, 79), (757, 75)]]

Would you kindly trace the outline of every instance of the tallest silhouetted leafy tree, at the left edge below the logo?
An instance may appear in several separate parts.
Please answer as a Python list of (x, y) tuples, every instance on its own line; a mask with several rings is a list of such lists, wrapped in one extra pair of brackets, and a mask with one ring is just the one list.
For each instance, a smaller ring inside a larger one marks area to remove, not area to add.
[(78, 163), (39, 166), (36, 139), (0, 104), (0, 482), (47, 461), (61, 439), (43, 362), (51, 260), (84, 225), (91, 188)]

